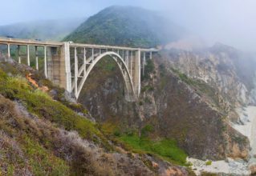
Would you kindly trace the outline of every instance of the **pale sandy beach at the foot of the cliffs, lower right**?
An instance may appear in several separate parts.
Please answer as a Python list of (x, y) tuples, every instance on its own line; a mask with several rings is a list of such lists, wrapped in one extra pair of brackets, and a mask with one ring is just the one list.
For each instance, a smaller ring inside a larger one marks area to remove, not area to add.
[(256, 106), (247, 106), (239, 109), (238, 113), (240, 114), (241, 122), (239, 124), (232, 124), (232, 126), (235, 130), (238, 130), (241, 134), (249, 138), (252, 148), (250, 151), (252, 156), (250, 162), (244, 162), (242, 160), (234, 161), (228, 158), (227, 161), (213, 161), (211, 165), (206, 166), (205, 161), (187, 158), (187, 161), (193, 164), (192, 169), (197, 175), (200, 175), (202, 171), (215, 174), (250, 175), (248, 166), (256, 162), (256, 159), (253, 158), (254, 154), (256, 154)]

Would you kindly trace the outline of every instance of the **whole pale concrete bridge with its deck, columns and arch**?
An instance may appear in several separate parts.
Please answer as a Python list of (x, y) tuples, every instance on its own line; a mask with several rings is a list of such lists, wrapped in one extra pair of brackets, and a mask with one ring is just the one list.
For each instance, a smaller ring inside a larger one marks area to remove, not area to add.
[[(128, 102), (140, 96), (140, 74), (144, 74), (146, 59), (152, 59), (156, 49), (124, 46), (104, 46), (74, 42), (43, 42), (18, 38), (0, 38), (7, 58), (35, 69), (43, 68), (46, 78), (79, 98), (91, 70), (102, 58), (111, 57), (119, 67), (125, 83), (124, 96)], [(31, 53), (33, 51), (33, 54)], [(14, 56), (13, 56), (14, 55)], [(31, 55), (35, 57), (32, 58)], [(43, 66), (40, 66), (42, 64)]]

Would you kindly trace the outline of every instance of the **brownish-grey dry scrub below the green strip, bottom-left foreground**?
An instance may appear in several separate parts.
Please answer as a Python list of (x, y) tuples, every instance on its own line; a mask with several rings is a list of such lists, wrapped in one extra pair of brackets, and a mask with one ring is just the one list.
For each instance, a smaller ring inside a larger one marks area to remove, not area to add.
[(35, 158), (27, 153), (41, 159), (43, 154), (51, 159), (45, 162), (55, 166), (57, 175), (124, 174), (112, 154), (104, 153), (103, 149), (81, 138), (76, 131), (56, 128), (51, 122), (32, 115), (27, 117), (25, 107), (2, 96), (0, 110), (0, 114), (4, 114), (0, 118), (0, 151), (6, 155), (4, 160), (0, 160), (2, 174), (53, 174), (43, 166), (39, 169), (33, 164)]

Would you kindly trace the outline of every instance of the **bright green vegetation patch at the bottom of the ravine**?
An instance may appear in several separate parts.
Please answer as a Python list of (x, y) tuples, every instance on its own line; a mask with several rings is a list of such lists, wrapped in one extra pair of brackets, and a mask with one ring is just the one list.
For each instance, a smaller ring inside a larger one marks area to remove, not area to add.
[(138, 154), (152, 154), (169, 162), (186, 165), (187, 154), (177, 146), (174, 139), (154, 140), (149, 137), (154, 131), (152, 125), (144, 126), (140, 130), (140, 135), (136, 130), (122, 131), (111, 122), (104, 123), (102, 130), (114, 142), (124, 146), (126, 150)]

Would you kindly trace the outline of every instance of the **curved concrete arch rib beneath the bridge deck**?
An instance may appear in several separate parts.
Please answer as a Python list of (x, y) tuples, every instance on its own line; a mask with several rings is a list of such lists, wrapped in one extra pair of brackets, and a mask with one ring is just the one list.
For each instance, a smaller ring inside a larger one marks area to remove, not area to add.
[(91, 64), (87, 67), (85, 74), (83, 75), (83, 78), (81, 80), (81, 82), (79, 82), (79, 86), (78, 86), (78, 90), (77, 90), (77, 94), (75, 94), (76, 98), (79, 98), (79, 94), (81, 93), (81, 90), (83, 89), (83, 85), (87, 80), (88, 75), (91, 73), (91, 70), (93, 70), (93, 68), (95, 67), (95, 65), (100, 62), (100, 60), (102, 58), (104, 58), (105, 56), (109, 56), (110, 58), (112, 58), (117, 66), (119, 67), (121, 74), (124, 78), (124, 84), (125, 84), (125, 98), (128, 102), (132, 102), (136, 99), (136, 94), (135, 94), (135, 90), (134, 90), (134, 86), (133, 86), (133, 82), (132, 82), (132, 75), (130, 74), (129, 70), (128, 70), (128, 66), (127, 64), (124, 62), (124, 58), (122, 58), (120, 56), (120, 54), (117, 54), (116, 52), (113, 51), (107, 51), (103, 54), (100, 54), (99, 56), (97, 56), (96, 58), (92, 58), (92, 62)]

